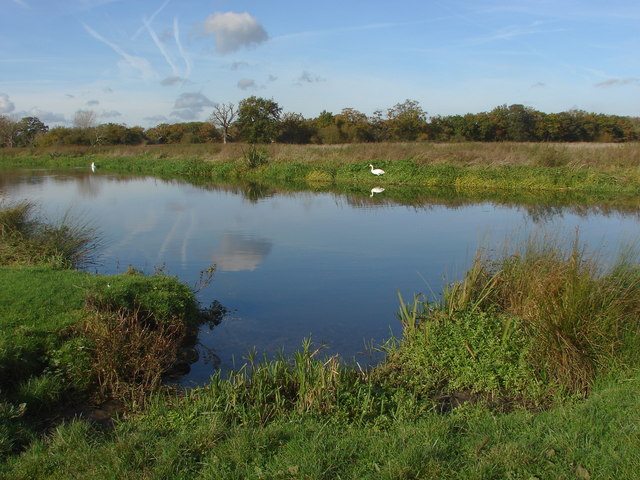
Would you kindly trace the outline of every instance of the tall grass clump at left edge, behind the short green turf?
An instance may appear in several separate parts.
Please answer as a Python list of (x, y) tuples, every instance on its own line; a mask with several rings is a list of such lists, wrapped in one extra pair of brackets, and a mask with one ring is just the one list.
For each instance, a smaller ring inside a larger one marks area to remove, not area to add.
[(0, 264), (78, 268), (92, 262), (99, 246), (97, 230), (88, 222), (69, 215), (58, 223), (44, 221), (28, 201), (0, 205)]

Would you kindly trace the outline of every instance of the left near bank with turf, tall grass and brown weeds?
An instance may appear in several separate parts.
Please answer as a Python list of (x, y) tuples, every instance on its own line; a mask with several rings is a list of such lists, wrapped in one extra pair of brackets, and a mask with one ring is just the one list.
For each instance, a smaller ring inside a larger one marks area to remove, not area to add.
[(33, 212), (29, 203), (0, 209), (0, 458), (79, 403), (142, 406), (183, 340), (219, 310), (202, 311), (166, 275), (71, 269), (93, 252), (93, 231)]

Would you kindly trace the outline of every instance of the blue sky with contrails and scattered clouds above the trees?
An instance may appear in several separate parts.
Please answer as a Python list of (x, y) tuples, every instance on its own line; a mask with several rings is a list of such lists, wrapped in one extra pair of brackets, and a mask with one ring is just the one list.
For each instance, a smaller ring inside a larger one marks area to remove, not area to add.
[(640, 116), (638, 0), (0, 0), (0, 115), (71, 126), (523, 104)]

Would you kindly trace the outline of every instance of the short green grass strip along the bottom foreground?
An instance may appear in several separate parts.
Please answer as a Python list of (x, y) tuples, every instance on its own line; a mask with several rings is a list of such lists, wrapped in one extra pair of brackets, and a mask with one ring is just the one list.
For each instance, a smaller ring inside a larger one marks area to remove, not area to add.
[(606, 379), (588, 399), (538, 413), (468, 406), (384, 428), (310, 415), (229, 423), (196, 392), (158, 399), (111, 432), (62, 425), (0, 472), (7, 480), (634, 478), (638, 381), (637, 372)]

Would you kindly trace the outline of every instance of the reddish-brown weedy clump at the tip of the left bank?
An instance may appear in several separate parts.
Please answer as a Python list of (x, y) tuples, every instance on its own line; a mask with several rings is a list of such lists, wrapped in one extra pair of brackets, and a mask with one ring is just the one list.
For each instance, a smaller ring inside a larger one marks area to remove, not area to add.
[(218, 302), (200, 309), (194, 291), (176, 278), (135, 269), (95, 279), (85, 308), (80, 330), (92, 345), (95, 396), (130, 407), (160, 390), (179, 349), (202, 323), (214, 324), (226, 311)]

